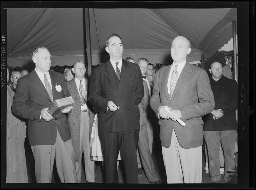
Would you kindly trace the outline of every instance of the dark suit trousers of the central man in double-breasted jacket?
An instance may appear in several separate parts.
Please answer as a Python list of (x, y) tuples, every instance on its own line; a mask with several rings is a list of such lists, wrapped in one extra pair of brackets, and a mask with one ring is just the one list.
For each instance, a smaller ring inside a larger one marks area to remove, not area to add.
[(117, 157), (119, 150), (124, 159), (127, 183), (138, 183), (136, 149), (140, 130), (128, 133), (100, 133), (102, 153), (105, 161), (106, 183), (118, 183)]

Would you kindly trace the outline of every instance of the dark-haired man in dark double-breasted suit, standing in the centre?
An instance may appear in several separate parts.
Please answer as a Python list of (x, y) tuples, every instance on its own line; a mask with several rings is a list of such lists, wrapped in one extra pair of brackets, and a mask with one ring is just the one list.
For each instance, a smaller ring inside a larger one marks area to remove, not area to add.
[(122, 59), (124, 48), (117, 34), (107, 38), (105, 50), (110, 60), (93, 69), (88, 99), (99, 111), (106, 183), (118, 183), (116, 167), (119, 149), (124, 159), (126, 182), (138, 183), (138, 104), (144, 94), (140, 67)]

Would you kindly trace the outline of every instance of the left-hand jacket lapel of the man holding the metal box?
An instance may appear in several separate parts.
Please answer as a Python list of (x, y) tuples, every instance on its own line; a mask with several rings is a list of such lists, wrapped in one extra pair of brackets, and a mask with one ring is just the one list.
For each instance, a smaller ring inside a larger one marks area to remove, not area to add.
[[(44, 84), (42, 83), (42, 81), (40, 80), (39, 76), (36, 74), (35, 69), (31, 72), (30, 81), (32, 81), (31, 86), (36, 89), (36, 91), (38, 91), (39, 93), (41, 93), (45, 98), (49, 99), (50, 101), (52, 101), (50, 99), (50, 96), (48, 95)], [(52, 80), (52, 79), (51, 79)], [(54, 95), (53, 95), (54, 98)]]

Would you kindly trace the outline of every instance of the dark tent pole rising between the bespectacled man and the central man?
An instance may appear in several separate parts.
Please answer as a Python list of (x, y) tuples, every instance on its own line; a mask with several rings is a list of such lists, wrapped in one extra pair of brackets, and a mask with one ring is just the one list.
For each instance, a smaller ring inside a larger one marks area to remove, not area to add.
[(87, 53), (87, 64), (88, 64), (88, 77), (92, 74), (92, 52), (91, 52), (91, 35), (90, 35), (90, 18), (89, 9), (84, 9), (84, 20), (85, 20), (85, 37), (86, 37), (86, 53)]

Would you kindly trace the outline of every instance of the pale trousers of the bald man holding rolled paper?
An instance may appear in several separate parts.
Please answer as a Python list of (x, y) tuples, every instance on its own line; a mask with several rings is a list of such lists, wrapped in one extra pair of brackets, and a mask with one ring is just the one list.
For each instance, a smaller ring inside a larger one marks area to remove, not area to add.
[(202, 183), (202, 146), (182, 148), (175, 131), (171, 146), (162, 146), (167, 183)]

